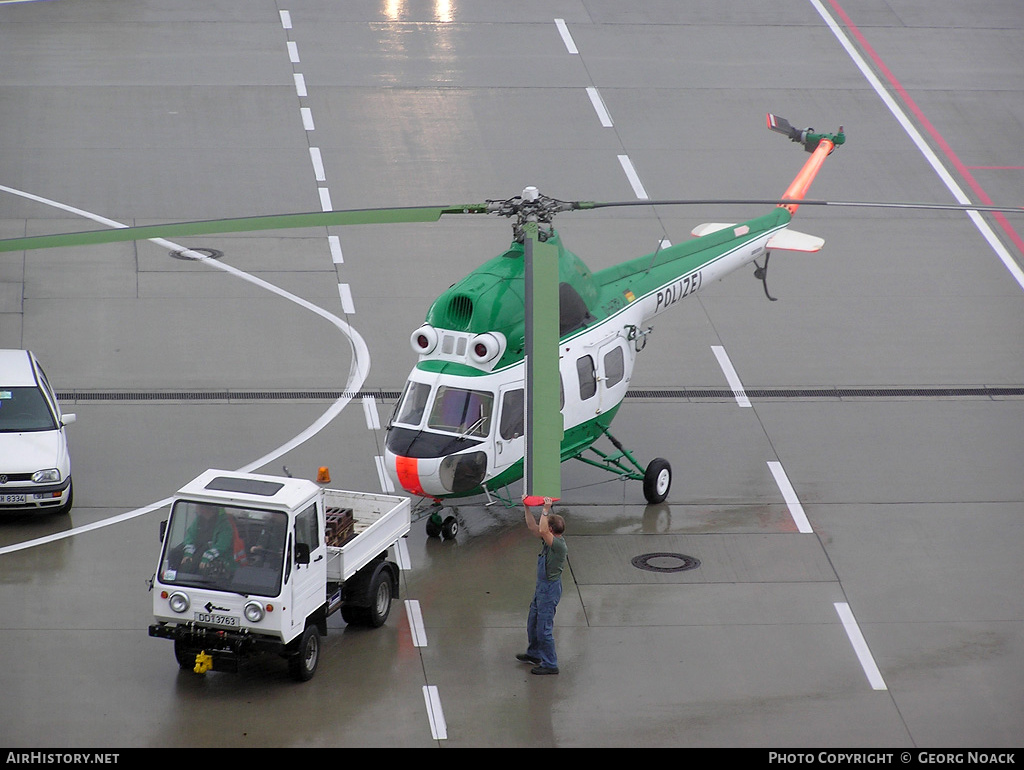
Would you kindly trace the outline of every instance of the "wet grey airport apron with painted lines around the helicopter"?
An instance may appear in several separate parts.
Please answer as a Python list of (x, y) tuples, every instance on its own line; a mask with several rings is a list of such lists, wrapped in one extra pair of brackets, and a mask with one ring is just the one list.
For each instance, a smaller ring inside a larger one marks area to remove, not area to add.
[[(1022, 36), (1014, 0), (5, 2), (0, 238), (526, 185), (768, 199), (806, 156), (767, 112), (845, 127), (811, 198), (1020, 206)], [(764, 210), (556, 226), (598, 269)], [(414, 524), (387, 624), (333, 617), (308, 683), (181, 672), (146, 632), (203, 470), (383, 488), (408, 336), (505, 220), (0, 254), (0, 347), (78, 417), (75, 509), (0, 520), (0, 746), (1020, 746), (1024, 218), (795, 228), (825, 247), (772, 260), (776, 302), (733, 274), (639, 356), (613, 429), (670, 460), (667, 503), (563, 465), (557, 677), (514, 659), (538, 548), (485, 501), (455, 541)]]

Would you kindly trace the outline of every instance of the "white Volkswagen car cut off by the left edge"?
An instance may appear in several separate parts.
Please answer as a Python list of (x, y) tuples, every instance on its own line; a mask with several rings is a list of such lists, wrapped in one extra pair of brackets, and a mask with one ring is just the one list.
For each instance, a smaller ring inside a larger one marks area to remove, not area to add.
[(31, 351), (0, 350), (0, 513), (71, 510), (73, 422)]

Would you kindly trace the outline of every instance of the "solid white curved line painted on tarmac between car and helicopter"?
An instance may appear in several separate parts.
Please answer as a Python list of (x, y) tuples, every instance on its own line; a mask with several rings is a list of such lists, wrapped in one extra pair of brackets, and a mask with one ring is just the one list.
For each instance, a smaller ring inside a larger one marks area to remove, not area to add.
[[(74, 206), (68, 206), (67, 204), (59, 203), (58, 201), (51, 201), (47, 198), (41, 198), (31, 193), (25, 193), (19, 189), (7, 187), (3, 184), (0, 184), (0, 190), (3, 190), (4, 193), (10, 193), (11, 195), (14, 196), (19, 196), (20, 198), (26, 198), (30, 201), (36, 201), (37, 203), (42, 203), (47, 206), (52, 206), (53, 208), (67, 211), (72, 214), (77, 214), (78, 216), (91, 219), (94, 222), (99, 222), (100, 224), (105, 224), (110, 227), (128, 226), (127, 224), (124, 224), (122, 222), (117, 222), (113, 219), (108, 219), (106, 217), (99, 216), (98, 214), (93, 214), (91, 212), (84, 211), (82, 209), (77, 209)], [(276, 294), (280, 297), (283, 297), (291, 302), (294, 302), (300, 307), (304, 307), (310, 312), (316, 313), (322, 318), (325, 318), (329, 323), (333, 324), (338, 329), (338, 331), (340, 331), (343, 335), (345, 335), (345, 337), (348, 338), (349, 344), (351, 345), (352, 368), (349, 370), (348, 373), (348, 382), (345, 383), (344, 394), (340, 398), (338, 398), (334, 403), (332, 403), (331, 407), (304, 431), (299, 433), (290, 441), (283, 443), (278, 448), (272, 450), (263, 457), (259, 458), (258, 460), (254, 460), (253, 462), (240, 468), (239, 470), (248, 472), (256, 468), (260, 468), (266, 465), (267, 463), (280, 458), (287, 452), (290, 452), (296, 446), (299, 446), (303, 442), (307, 441), (309, 438), (316, 435), (319, 431), (322, 431), (325, 427), (327, 427), (327, 425), (341, 413), (341, 411), (348, 404), (348, 402), (352, 400), (352, 397), (356, 393), (358, 393), (359, 389), (362, 387), (362, 383), (366, 382), (367, 375), (370, 373), (370, 348), (367, 347), (367, 343), (362, 339), (361, 335), (359, 335), (359, 333), (356, 332), (351, 326), (346, 324), (337, 315), (328, 312), (324, 308), (318, 307), (312, 304), (311, 302), (308, 302), (307, 300), (304, 300), (301, 297), (292, 294), (291, 292), (285, 291), (281, 287), (267, 283), (263, 279), (258, 279), (255, 275), (250, 275), (248, 272), (240, 270), (237, 267), (223, 264), (222, 262), (218, 262), (215, 259), (210, 259), (204, 254), (190, 251), (188, 249), (184, 249), (183, 247), (162, 238), (154, 238), (150, 239), (150, 241), (166, 249), (171, 249), (174, 251), (182, 251), (187, 256), (194, 258), (196, 261), (203, 262), (204, 264), (207, 264), (211, 267), (216, 267), (218, 269), (221, 269), (224, 272), (230, 273), (231, 275), (234, 275), (236, 277), (241, 279), (243, 281), (248, 281), (250, 284), (258, 286), (261, 289), (265, 289), (266, 291), (271, 292), (272, 294)], [(12, 553), (14, 551), (24, 551), (26, 549), (33, 548), (35, 546), (41, 546), (45, 543), (52, 543), (53, 541), (63, 540), (65, 538), (71, 538), (74, 534), (80, 534), (82, 532), (87, 532), (92, 529), (98, 529), (103, 526), (110, 526), (111, 524), (117, 524), (121, 521), (126, 521), (128, 519), (135, 518), (136, 516), (141, 516), (142, 514), (150, 513), (151, 511), (159, 510), (164, 506), (169, 505), (170, 502), (171, 498), (167, 498), (158, 503), (152, 503), (151, 505), (147, 505), (143, 508), (136, 508), (134, 511), (128, 511), (126, 513), (122, 513), (117, 516), (112, 516), (110, 518), (103, 519), (102, 521), (95, 521), (91, 524), (85, 524), (84, 526), (75, 527), (73, 529), (69, 529), (63, 532), (49, 534), (46, 536), (45, 538), (37, 538), (36, 540), (26, 541), (25, 543), (18, 543), (13, 546), (5, 546), (3, 548), (0, 548), (0, 556), (6, 553)]]

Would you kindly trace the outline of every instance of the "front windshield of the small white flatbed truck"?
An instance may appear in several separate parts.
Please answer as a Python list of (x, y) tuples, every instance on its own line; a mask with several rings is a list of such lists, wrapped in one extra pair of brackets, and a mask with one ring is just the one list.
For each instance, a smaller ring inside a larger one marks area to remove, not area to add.
[(171, 510), (161, 582), (278, 596), (288, 516), (273, 511), (179, 500)]

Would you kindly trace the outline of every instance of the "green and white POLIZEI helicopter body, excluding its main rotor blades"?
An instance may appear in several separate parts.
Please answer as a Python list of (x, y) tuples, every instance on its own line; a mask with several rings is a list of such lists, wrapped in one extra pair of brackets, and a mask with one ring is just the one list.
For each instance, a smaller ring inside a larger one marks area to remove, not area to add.
[[(552, 225), (555, 214), (586, 205), (547, 198), (536, 187), (490, 202), (493, 212), (514, 219), (512, 244), (442, 293), (410, 336), (419, 359), (384, 442), (392, 481), (439, 505), (480, 495), (493, 500), (498, 490), (528, 474), (525, 441), (530, 431), (525, 421), (531, 410), (526, 382), (529, 351), (537, 343), (527, 339), (526, 257), (536, 238), (556, 265), (548, 285), (556, 282), (558, 287), (557, 296), (548, 298), (557, 305), (557, 370), (532, 378), (535, 383), (557, 382), (557, 391), (547, 398), (532, 393), (534, 409), (548, 408), (544, 423), (554, 425), (558, 435), (555, 464), (583, 461), (642, 481), (648, 503), (665, 501), (672, 485), (671, 463), (654, 458), (642, 466), (610, 432), (651, 322), (751, 262), (765, 294), (774, 299), (767, 288), (771, 253), (814, 252), (824, 244), (790, 229), (788, 223), (824, 159), (845, 142), (843, 129), (836, 134), (796, 129), (771, 114), (767, 122), (811, 153), (785, 190), (785, 203), (742, 223), (698, 225), (690, 241), (603, 270), (591, 271)], [(536, 236), (530, 236), (527, 229), (535, 223)], [(761, 258), (763, 265), (757, 262)], [(557, 412), (551, 407), (555, 399)], [(612, 451), (596, 445), (602, 438)], [(455, 517), (441, 519), (437, 512), (427, 523), (429, 534), (445, 538), (454, 537), (457, 527)]]

